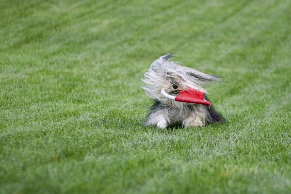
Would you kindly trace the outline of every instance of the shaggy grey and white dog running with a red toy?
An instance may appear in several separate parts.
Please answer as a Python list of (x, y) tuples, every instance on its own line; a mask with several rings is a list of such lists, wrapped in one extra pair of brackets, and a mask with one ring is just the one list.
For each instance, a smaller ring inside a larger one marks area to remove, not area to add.
[[(154, 99), (146, 117), (146, 126), (165, 129), (170, 126), (201, 127), (211, 123), (226, 121), (214, 107), (175, 101), (168, 96), (179, 96), (181, 91), (195, 89), (206, 93), (203, 88), (210, 81), (220, 81), (216, 76), (208, 75), (195, 69), (173, 62), (173, 53), (168, 53), (155, 60), (145, 73), (142, 88), (146, 95)], [(166, 94), (162, 94), (162, 91)], [(206, 101), (210, 100), (204, 96)]]

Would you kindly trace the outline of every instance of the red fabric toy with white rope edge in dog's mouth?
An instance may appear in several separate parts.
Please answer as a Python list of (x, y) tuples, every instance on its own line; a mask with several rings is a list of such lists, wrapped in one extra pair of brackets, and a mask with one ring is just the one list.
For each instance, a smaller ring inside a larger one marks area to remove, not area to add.
[(173, 99), (175, 101), (203, 104), (206, 106), (210, 106), (210, 101), (207, 101), (204, 99), (205, 93), (196, 89), (191, 88), (188, 90), (180, 91), (179, 96), (177, 97), (167, 94), (163, 89), (161, 92), (164, 97)]

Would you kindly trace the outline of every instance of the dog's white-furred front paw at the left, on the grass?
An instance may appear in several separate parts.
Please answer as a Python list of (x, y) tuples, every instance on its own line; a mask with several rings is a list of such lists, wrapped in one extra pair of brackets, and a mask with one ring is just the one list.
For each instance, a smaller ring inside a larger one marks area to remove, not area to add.
[(163, 111), (151, 113), (146, 119), (146, 125), (157, 126), (160, 129), (165, 129), (168, 126), (167, 117)]

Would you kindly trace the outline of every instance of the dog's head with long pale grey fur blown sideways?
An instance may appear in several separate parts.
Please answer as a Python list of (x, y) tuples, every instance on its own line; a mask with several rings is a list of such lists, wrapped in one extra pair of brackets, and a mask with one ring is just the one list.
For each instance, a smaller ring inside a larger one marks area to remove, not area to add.
[(195, 69), (180, 65), (178, 62), (170, 61), (173, 54), (166, 54), (155, 60), (149, 70), (145, 73), (144, 86), (147, 96), (158, 99), (163, 104), (179, 106), (182, 102), (164, 97), (167, 94), (178, 96), (180, 91), (197, 89), (206, 92), (203, 86), (209, 81), (219, 81), (215, 76), (201, 73)]

